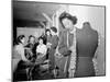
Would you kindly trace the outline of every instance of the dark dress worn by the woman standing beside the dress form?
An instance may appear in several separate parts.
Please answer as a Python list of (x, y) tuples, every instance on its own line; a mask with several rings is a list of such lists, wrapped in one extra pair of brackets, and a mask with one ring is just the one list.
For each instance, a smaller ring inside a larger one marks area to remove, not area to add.
[[(73, 34), (68, 34), (67, 39), (67, 30), (64, 30), (59, 33), (59, 44), (58, 44), (58, 51), (63, 55), (62, 58), (57, 59), (56, 63), (59, 68), (59, 75), (58, 78), (68, 78), (68, 68), (70, 63), (70, 50), (69, 47), (73, 45)], [(68, 46), (67, 46), (68, 40)]]

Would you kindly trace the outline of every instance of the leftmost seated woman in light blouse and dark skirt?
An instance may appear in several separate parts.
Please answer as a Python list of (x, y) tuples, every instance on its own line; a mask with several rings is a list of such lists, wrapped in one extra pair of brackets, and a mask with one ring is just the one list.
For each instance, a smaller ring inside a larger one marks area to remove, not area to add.
[(25, 36), (20, 35), (16, 39), (18, 44), (14, 46), (13, 55), (12, 55), (12, 70), (13, 70), (13, 80), (23, 80), (24, 78), (18, 77), (18, 71), (26, 69), (31, 67), (33, 63), (28, 60), (24, 54), (24, 42)]

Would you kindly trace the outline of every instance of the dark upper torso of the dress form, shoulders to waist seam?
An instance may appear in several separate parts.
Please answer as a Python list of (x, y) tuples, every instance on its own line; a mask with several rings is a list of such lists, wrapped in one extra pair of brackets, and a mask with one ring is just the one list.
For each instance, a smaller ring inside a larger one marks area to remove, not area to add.
[(78, 57), (94, 57), (98, 47), (98, 33), (82, 28), (76, 33)]

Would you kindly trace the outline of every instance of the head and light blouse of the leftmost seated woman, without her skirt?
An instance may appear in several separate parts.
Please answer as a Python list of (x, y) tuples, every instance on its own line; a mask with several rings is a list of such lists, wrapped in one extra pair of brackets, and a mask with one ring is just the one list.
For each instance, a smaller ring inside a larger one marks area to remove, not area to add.
[(24, 56), (24, 40), (25, 40), (24, 35), (20, 35), (16, 38), (16, 45), (14, 46), (13, 55), (12, 55), (13, 71), (16, 69), (16, 66), (20, 60), (28, 61), (28, 59)]

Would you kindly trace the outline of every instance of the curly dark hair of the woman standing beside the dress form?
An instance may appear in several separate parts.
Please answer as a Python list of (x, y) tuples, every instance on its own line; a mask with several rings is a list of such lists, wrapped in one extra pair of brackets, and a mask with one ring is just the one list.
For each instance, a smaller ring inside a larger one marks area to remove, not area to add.
[[(70, 21), (73, 22), (74, 25), (77, 23), (77, 17), (70, 15), (70, 14), (67, 13), (67, 12), (63, 12), (63, 13), (61, 14), (61, 16), (59, 16), (59, 22), (62, 23), (62, 25), (63, 25), (63, 22), (62, 22), (62, 21), (63, 21), (64, 19), (70, 20)], [(63, 25), (63, 26), (64, 26), (64, 25)], [(65, 26), (64, 26), (64, 27), (65, 27)]]

